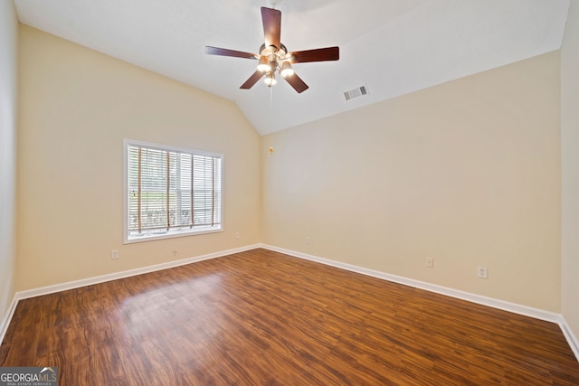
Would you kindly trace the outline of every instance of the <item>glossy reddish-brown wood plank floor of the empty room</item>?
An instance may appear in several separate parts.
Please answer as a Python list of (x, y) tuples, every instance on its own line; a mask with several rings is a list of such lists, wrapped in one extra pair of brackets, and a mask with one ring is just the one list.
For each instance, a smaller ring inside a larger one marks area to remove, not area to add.
[(1, 366), (82, 385), (579, 385), (558, 325), (265, 249), (21, 301)]

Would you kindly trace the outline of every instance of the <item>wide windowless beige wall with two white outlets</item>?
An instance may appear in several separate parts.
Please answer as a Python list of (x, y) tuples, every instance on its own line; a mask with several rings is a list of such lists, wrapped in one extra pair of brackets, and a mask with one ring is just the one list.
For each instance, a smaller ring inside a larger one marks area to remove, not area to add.
[(264, 242), (560, 311), (559, 64), (552, 52), (261, 137)]

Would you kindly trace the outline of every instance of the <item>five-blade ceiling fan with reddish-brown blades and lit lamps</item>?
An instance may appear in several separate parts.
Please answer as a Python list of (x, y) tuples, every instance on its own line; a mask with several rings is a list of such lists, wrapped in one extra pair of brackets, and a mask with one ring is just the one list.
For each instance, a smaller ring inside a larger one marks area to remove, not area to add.
[(257, 71), (253, 72), (253, 75), (242, 84), (240, 89), (251, 89), (263, 76), (265, 76), (265, 84), (271, 87), (276, 83), (275, 72), (279, 71), (281, 77), (300, 93), (308, 89), (308, 85), (293, 71), (292, 63), (337, 61), (339, 59), (338, 47), (288, 52), (286, 46), (280, 42), (281, 12), (279, 10), (261, 7), (261, 20), (265, 42), (261, 44), (259, 54), (205, 46), (205, 53), (210, 55), (259, 60)]

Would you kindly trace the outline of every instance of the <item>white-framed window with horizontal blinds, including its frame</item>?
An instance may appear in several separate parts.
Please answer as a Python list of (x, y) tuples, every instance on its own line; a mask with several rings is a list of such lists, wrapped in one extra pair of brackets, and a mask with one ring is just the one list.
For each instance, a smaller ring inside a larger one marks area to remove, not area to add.
[(125, 242), (222, 231), (223, 155), (125, 140)]

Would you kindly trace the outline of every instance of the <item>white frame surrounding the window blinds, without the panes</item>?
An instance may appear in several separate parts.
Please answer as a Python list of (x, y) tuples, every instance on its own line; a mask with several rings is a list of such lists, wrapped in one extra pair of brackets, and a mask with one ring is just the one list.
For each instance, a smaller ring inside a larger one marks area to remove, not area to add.
[[(157, 150), (162, 150), (166, 152), (177, 152), (177, 153), (186, 153), (190, 155), (204, 155), (204, 156), (211, 156), (211, 157), (218, 157), (221, 159), (221, 180), (219, 181), (219, 189), (221, 190), (220, 194), (220, 211), (219, 211), (219, 223), (213, 226), (205, 225), (199, 227), (192, 227), (188, 230), (168, 230), (162, 234), (149, 234), (149, 235), (142, 235), (142, 236), (129, 236), (128, 230), (128, 211), (129, 211), (129, 204), (128, 204), (128, 193), (129, 193), (129, 177), (128, 177), (128, 156), (129, 146), (143, 146), (148, 148), (153, 148)], [(130, 244), (135, 242), (144, 242), (144, 241), (152, 241), (152, 240), (164, 240), (164, 239), (172, 239), (176, 237), (185, 237), (185, 236), (194, 236), (199, 234), (207, 234), (207, 233), (215, 233), (215, 232), (222, 232), (223, 231), (223, 176), (224, 176), (224, 155), (221, 153), (214, 153), (208, 152), (205, 150), (198, 150), (198, 149), (191, 149), (185, 147), (178, 147), (178, 146), (167, 146), (167, 145), (160, 145), (154, 144), (150, 142), (138, 141), (135, 139), (123, 139), (123, 244)]]

